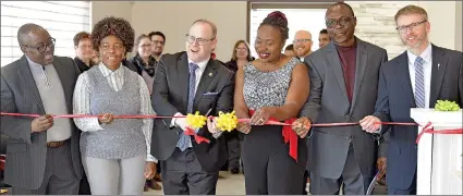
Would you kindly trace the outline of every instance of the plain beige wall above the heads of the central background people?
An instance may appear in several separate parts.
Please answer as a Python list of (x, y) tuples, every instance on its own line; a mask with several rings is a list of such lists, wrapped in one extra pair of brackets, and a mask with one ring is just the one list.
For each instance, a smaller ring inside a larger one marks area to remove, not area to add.
[[(185, 35), (195, 20), (206, 19), (218, 28), (217, 58), (228, 61), (236, 40), (246, 39), (245, 1), (93, 1), (92, 21), (114, 15), (131, 21), (136, 36), (159, 30), (166, 35), (165, 53), (185, 50)], [(183, 16), (182, 16), (183, 15)]]

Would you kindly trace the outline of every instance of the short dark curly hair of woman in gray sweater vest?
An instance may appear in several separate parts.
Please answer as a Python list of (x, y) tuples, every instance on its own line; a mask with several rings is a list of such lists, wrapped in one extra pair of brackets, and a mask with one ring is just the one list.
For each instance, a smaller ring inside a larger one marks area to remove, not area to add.
[(92, 44), (94, 49), (99, 51), (100, 41), (110, 35), (122, 40), (125, 52), (131, 52), (135, 40), (135, 30), (131, 23), (122, 17), (108, 16), (98, 21), (92, 30)]

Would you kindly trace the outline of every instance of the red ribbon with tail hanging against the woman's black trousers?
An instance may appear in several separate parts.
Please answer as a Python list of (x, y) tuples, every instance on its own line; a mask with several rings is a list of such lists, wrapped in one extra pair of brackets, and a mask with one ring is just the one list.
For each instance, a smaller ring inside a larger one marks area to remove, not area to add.
[[(256, 111), (249, 110), (249, 115), (253, 115)], [(282, 136), (284, 139), (284, 143), (290, 143), (290, 156), (297, 162), (297, 134), (293, 131), (292, 124), (296, 119), (289, 119), (284, 121), (284, 123), (278, 122), (277, 119), (270, 118), (269, 121), (266, 124), (273, 124), (273, 125), (282, 125)], [(248, 122), (248, 120), (247, 120)]]

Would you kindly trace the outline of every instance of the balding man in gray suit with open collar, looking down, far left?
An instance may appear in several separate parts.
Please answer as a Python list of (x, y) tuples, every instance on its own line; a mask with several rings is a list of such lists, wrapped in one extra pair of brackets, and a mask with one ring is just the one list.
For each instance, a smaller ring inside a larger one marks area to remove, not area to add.
[[(1, 69), (1, 117), (7, 142), (5, 183), (19, 195), (76, 195), (82, 177), (78, 131), (70, 119), (80, 74), (70, 58), (54, 57), (54, 38), (36, 24), (17, 32), (24, 56)], [(47, 114), (46, 114), (47, 113)]]

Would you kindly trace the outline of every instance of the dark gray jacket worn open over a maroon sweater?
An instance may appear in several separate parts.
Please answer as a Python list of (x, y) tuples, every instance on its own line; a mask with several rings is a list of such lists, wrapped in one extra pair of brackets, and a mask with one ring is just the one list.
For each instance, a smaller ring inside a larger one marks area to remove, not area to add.
[[(358, 122), (375, 111), (379, 68), (388, 54), (385, 49), (358, 38), (356, 42), (352, 103), (338, 51), (330, 42), (304, 59), (309, 70), (310, 95), (301, 115), (308, 117), (313, 123)], [(351, 143), (362, 174), (365, 177), (375, 174), (377, 143), (360, 126), (314, 127), (309, 143), (309, 170), (317, 175), (340, 177)]]

